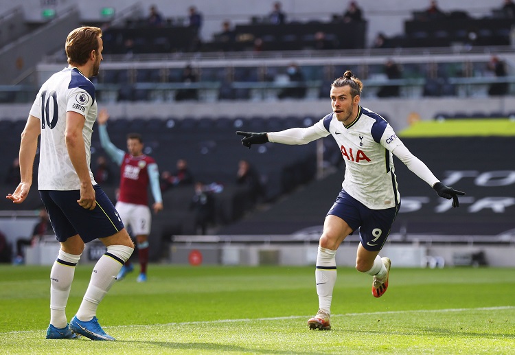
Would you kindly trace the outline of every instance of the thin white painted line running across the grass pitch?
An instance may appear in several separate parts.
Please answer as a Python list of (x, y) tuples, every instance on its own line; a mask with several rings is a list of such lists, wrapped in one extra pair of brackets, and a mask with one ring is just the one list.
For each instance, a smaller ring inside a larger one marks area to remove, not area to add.
[[(370, 315), (384, 315), (384, 314), (406, 314), (406, 313), (447, 313), (447, 312), (468, 312), (468, 311), (487, 311), (487, 310), (513, 310), (515, 306), (499, 306), (499, 307), (479, 307), (479, 308), (446, 308), (443, 310), (387, 310), (384, 312), (363, 312), (363, 313), (344, 313), (344, 314), (331, 314), (331, 317), (359, 317)], [(141, 328), (153, 325), (157, 326), (170, 326), (170, 325), (198, 325), (198, 324), (216, 324), (216, 323), (238, 323), (238, 322), (255, 322), (255, 321), (280, 321), (285, 319), (300, 319), (308, 318), (311, 316), (288, 316), (288, 317), (271, 317), (271, 318), (243, 318), (243, 319), (217, 319), (216, 321), (191, 321), (191, 322), (174, 322), (162, 324), (133, 324), (133, 325), (112, 325), (110, 327), (102, 328)], [(43, 330), (41, 330), (43, 332)], [(0, 334), (23, 334), (34, 333), (34, 330), (19, 330), (16, 332), (6, 332)]]

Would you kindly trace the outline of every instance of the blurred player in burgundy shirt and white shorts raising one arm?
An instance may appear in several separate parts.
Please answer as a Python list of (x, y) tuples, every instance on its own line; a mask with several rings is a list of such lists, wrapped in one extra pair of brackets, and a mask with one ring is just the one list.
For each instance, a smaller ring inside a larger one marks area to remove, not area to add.
[[(103, 109), (98, 113), (98, 133), (100, 144), (111, 160), (120, 167), (119, 196), (116, 209), (124, 225), (130, 225), (135, 235), (138, 249), (140, 272), (137, 282), (147, 281), (148, 266), (148, 235), (152, 225), (152, 214), (148, 207), (148, 187), (152, 191), (154, 204), (152, 209), (157, 214), (163, 209), (163, 198), (159, 188), (159, 170), (156, 161), (143, 152), (141, 135), (127, 135), (127, 151), (117, 148), (107, 133), (108, 112)], [(133, 271), (134, 266), (127, 260), (119, 271), (116, 279), (123, 279)]]

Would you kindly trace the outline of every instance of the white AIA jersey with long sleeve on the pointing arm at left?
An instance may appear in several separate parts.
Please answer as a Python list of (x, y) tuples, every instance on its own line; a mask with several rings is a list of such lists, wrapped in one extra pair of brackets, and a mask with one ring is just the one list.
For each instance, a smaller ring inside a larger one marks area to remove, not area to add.
[(359, 107), (358, 117), (344, 126), (330, 113), (308, 128), (268, 133), (271, 142), (306, 144), (332, 135), (345, 160), (342, 187), (370, 209), (396, 207), (400, 202), (391, 151), (402, 145), (393, 128), (380, 115)]

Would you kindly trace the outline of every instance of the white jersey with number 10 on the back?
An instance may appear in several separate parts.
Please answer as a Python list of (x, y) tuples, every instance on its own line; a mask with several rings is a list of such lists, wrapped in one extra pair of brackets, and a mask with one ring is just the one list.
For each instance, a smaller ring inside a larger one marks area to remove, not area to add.
[(41, 121), (38, 190), (80, 190), (80, 181), (68, 155), (65, 141), (66, 113), (84, 116), (84, 148), (91, 183), (91, 133), (97, 118), (93, 83), (77, 68), (65, 68), (51, 76), (41, 87), (30, 115)]

